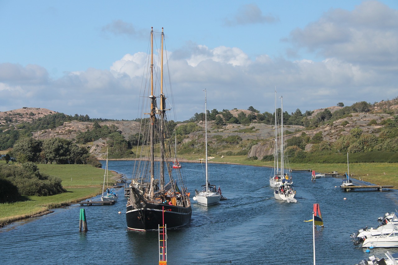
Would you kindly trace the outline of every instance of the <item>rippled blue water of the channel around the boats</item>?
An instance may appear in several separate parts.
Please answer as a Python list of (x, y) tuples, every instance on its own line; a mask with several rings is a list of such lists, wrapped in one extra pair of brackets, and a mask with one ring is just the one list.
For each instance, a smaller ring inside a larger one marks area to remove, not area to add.
[[(108, 167), (129, 178), (133, 163), (109, 161)], [(228, 200), (205, 207), (192, 200), (204, 184), (204, 165), (183, 163), (182, 170), (191, 191), (192, 220), (168, 231), (168, 264), (313, 264), (312, 223), (303, 221), (312, 218), (314, 203), (320, 204), (325, 224), (315, 231), (317, 264), (356, 264), (371, 254), (384, 257), (388, 250), (365, 253), (349, 235), (376, 227), (379, 216), (395, 211), (395, 190), (344, 192), (341, 179), (312, 182), (310, 172), (294, 173), (298, 202), (286, 203), (273, 197), (271, 169), (210, 164), (210, 182), (220, 185)], [(158, 233), (128, 231), (127, 199), (123, 188), (117, 193), (115, 205), (71, 205), (1, 228), (0, 264), (158, 264)], [(86, 210), (87, 233), (79, 232), (80, 208)]]

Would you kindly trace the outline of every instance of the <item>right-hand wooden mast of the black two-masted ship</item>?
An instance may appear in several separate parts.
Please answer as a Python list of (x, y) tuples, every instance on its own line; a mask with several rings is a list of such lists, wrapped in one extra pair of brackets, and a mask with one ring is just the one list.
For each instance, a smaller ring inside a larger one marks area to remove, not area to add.
[(163, 94), (163, 27), (160, 56), (160, 191), (164, 191), (164, 94)]

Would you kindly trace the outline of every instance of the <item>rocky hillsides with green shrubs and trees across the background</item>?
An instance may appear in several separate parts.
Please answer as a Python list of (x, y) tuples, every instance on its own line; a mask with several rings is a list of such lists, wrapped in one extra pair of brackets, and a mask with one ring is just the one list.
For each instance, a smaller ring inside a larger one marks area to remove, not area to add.
[[(0, 113), (1, 150), (12, 147), (15, 150), (15, 145), (21, 145), (21, 141), (26, 141), (23, 140), (26, 138), (32, 138), (30, 141), (42, 141), (39, 147), (44, 146), (44, 142), (49, 139), (62, 138), (77, 144), (97, 158), (103, 158), (106, 149), (110, 158), (135, 156), (134, 150), (139, 139), (139, 119), (109, 121), (48, 110), (47, 115), (39, 117), (40, 109), (35, 109), (37, 114), (30, 108), (20, 110), (24, 113)], [(260, 113), (252, 106), (247, 110), (208, 111), (209, 154), (219, 157), (247, 155), (252, 160), (271, 160), (274, 153), (274, 120), (275, 115), (280, 120), (280, 111), (277, 109), (276, 114)], [(299, 109), (290, 114), (285, 111), (283, 120), (286, 152), (292, 162), (339, 162), (339, 154), (347, 152), (367, 154), (359, 155), (359, 162), (398, 162), (394, 155), (398, 151), (397, 113), (398, 98), (373, 104), (360, 101), (351, 106), (344, 106), (339, 102), (333, 107), (305, 113)], [(177, 135), (180, 156), (203, 154), (203, 120), (204, 113), (195, 113), (188, 121), (168, 122), (167, 126)], [(51, 143), (47, 146), (51, 146)], [(50, 160), (61, 164), (75, 164), (82, 160), (72, 156), (72, 151), (69, 156), (55, 154), (57, 159), (49, 159), (47, 152), (49, 151), (41, 148), (39, 154), (28, 159), (24, 156), (21, 158), (21, 154), (16, 151), (10, 152), (10, 156), (17, 158), (17, 161), (25, 159), (20, 162), (48, 163)], [(324, 158), (325, 155), (327, 158)]]

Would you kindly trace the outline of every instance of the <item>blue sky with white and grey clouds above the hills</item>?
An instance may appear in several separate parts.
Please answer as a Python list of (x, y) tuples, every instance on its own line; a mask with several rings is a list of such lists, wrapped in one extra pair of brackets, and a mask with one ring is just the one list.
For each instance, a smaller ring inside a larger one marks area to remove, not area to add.
[(175, 121), (398, 97), (397, 0), (0, 0), (0, 111), (140, 117), (151, 27)]

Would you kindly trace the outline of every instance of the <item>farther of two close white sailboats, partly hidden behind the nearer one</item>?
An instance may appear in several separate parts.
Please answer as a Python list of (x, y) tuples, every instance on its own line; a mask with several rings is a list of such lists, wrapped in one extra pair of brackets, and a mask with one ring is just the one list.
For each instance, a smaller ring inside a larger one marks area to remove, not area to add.
[[(281, 97), (282, 99), (282, 97)], [(277, 103), (276, 103), (276, 90), (275, 90), (275, 154), (274, 154), (274, 170), (271, 177), (269, 177), (269, 186), (277, 188), (282, 184), (292, 185), (292, 176), (290, 171), (285, 168), (285, 156), (283, 147), (283, 106), (281, 106), (281, 136), (280, 145), (278, 150), (278, 130), (277, 130)], [(281, 167), (279, 168), (278, 152), (281, 152)]]

